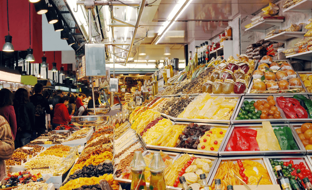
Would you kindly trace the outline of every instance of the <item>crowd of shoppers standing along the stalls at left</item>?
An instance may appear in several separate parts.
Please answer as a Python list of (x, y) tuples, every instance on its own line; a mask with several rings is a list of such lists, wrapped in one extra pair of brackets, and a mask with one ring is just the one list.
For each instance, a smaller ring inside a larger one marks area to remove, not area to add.
[[(94, 92), (94, 96), (95, 105), (100, 105), (100, 94)], [(11, 133), (6, 136), (12, 137), (16, 149), (48, 130), (70, 124), (73, 116), (87, 115), (87, 108), (93, 108), (93, 100), (83, 93), (63, 95), (61, 90), (57, 90), (51, 96), (48, 91), (43, 91), (41, 83), (37, 83), (32, 91), (19, 88), (14, 94), (3, 88), (0, 90), (0, 130), (4, 124), (9, 126)]]

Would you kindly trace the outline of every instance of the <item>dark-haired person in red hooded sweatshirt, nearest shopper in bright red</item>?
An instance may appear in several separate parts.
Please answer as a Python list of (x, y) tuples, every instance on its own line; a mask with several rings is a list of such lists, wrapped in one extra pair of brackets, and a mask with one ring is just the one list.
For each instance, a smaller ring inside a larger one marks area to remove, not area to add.
[(60, 102), (56, 104), (54, 110), (54, 118), (52, 120), (53, 130), (60, 125), (67, 125), (68, 122), (71, 121), (71, 117), (69, 116), (68, 109), (66, 108), (66, 104), (68, 103), (69, 98), (64, 96), (60, 99)]

